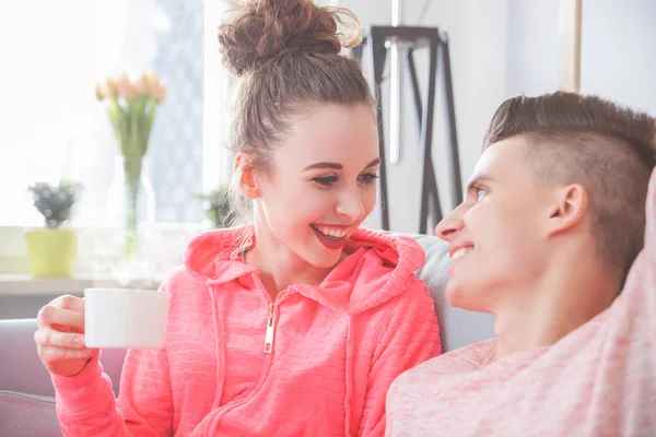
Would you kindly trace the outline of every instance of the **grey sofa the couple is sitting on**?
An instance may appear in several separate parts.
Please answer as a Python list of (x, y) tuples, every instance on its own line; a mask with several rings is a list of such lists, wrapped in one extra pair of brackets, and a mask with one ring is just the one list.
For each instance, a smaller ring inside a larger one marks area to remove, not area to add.
[[(445, 302), (448, 280), (447, 245), (433, 236), (413, 235), (426, 252), (418, 272), (435, 302), (443, 351), (447, 352), (494, 335), (489, 315), (454, 308)], [(61, 436), (55, 412), (50, 377), (36, 354), (34, 319), (0, 320), (0, 436)], [(101, 352), (101, 363), (118, 393), (124, 350)]]

